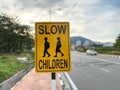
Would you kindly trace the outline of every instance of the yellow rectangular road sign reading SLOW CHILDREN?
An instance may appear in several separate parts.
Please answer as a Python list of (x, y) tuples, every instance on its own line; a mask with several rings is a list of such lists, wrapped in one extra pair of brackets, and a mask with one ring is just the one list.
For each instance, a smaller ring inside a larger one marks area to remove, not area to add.
[(70, 64), (69, 22), (36, 22), (36, 71), (70, 71)]

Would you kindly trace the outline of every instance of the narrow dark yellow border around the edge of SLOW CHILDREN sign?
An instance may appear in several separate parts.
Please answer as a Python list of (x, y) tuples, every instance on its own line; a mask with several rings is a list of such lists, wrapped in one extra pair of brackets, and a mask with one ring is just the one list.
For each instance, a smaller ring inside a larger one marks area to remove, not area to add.
[[(37, 70), (37, 24), (67, 24), (68, 25), (68, 54), (69, 54), (69, 68), (67, 70)], [(70, 23), (69, 22), (35, 22), (35, 70), (36, 72), (66, 72), (71, 70), (71, 58), (70, 58)]]

